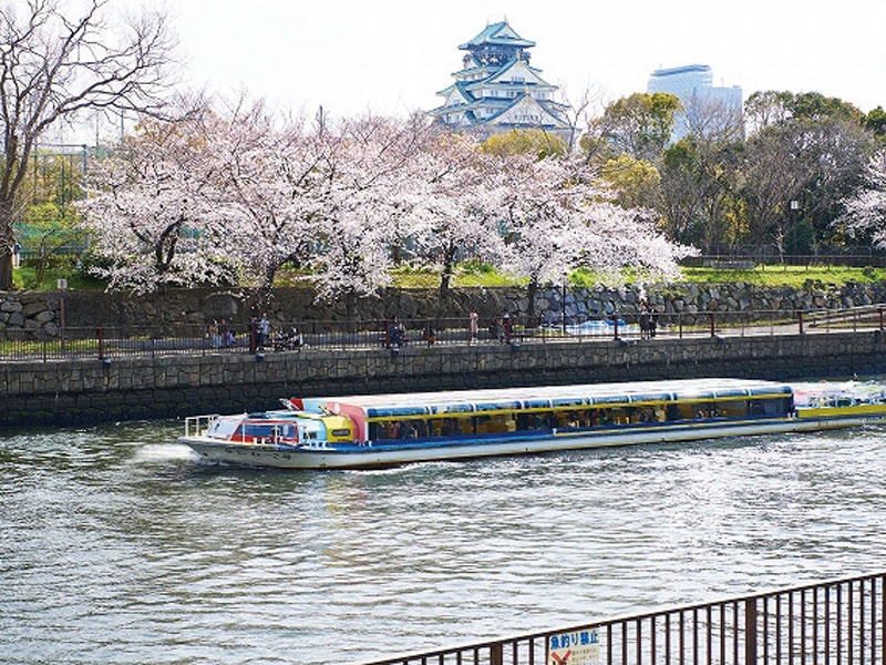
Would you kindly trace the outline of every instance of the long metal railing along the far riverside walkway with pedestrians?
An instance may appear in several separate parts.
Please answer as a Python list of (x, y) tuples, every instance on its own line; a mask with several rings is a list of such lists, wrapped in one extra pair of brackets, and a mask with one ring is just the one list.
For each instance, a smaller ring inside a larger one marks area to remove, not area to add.
[[(267, 339), (255, 327), (231, 325), (220, 330), (205, 325), (70, 328), (52, 339), (0, 341), (0, 361), (111, 359), (134, 356), (256, 354), (319, 349), (399, 349), (414, 346), (532, 345), (640, 339), (794, 335), (884, 329), (879, 306), (822, 311), (745, 310), (672, 313), (641, 317), (626, 314), (567, 316), (547, 320), (514, 317), (483, 321), (475, 335), (467, 319), (372, 321), (275, 321)], [(13, 335), (7, 330), (7, 335)]]

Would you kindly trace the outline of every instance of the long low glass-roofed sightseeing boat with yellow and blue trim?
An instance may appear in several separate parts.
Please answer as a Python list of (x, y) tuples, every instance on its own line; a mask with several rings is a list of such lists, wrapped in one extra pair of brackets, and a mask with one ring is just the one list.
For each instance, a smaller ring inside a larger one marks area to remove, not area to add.
[(883, 387), (687, 379), (337, 398), (194, 416), (179, 442), (210, 462), (357, 469), (847, 428), (886, 419)]

